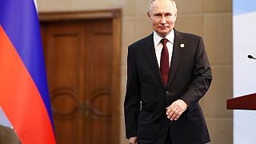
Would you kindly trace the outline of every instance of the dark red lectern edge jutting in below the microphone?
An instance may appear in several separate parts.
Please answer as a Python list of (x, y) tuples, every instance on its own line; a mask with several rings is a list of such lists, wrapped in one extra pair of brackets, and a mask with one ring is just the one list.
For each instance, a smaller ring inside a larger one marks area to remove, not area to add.
[(228, 110), (256, 110), (256, 93), (226, 100)]

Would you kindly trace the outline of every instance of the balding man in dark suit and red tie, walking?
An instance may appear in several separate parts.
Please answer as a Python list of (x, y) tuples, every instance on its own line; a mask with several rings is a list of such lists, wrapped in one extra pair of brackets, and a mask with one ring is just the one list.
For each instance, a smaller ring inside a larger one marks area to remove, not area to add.
[(126, 138), (139, 144), (210, 142), (199, 106), (212, 80), (202, 38), (174, 30), (172, 0), (151, 0), (154, 33), (128, 48)]

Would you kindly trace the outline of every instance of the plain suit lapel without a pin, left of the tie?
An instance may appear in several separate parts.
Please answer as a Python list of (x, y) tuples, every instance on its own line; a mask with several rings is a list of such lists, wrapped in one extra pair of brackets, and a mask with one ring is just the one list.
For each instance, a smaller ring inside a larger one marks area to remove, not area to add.
[(161, 83), (162, 87), (165, 87), (162, 82), (162, 77), (161, 77), (160, 69), (158, 66), (158, 60), (154, 50), (153, 34), (150, 34), (150, 36), (146, 38), (145, 45), (146, 46), (143, 46), (143, 51), (144, 51), (144, 54), (146, 55), (146, 59), (149, 62), (155, 77), (158, 79), (158, 82)]

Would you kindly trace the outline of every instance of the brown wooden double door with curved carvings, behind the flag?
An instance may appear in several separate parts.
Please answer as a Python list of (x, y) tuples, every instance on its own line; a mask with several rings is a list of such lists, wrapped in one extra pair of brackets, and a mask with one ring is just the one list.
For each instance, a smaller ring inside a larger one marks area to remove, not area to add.
[(113, 20), (41, 25), (57, 143), (118, 143), (120, 60)]

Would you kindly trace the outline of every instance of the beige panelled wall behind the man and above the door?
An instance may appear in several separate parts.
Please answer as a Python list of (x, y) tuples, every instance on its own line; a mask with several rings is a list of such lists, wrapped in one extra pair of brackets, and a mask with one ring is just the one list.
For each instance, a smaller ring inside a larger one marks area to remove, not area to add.
[[(152, 32), (146, 7), (149, 0), (37, 0), (39, 12), (122, 9), (122, 94), (126, 90), (127, 46)], [(202, 99), (211, 144), (233, 143), (232, 111), (226, 98), (232, 97), (232, 0), (176, 0), (178, 21), (175, 28), (201, 35), (210, 58), (214, 80)], [(122, 109), (122, 105), (120, 107)], [(120, 115), (121, 138), (125, 144), (123, 110)]]

